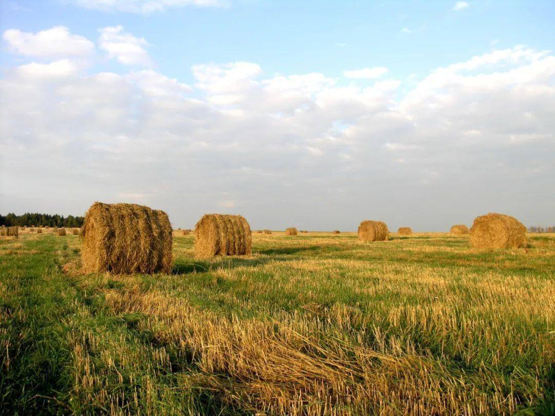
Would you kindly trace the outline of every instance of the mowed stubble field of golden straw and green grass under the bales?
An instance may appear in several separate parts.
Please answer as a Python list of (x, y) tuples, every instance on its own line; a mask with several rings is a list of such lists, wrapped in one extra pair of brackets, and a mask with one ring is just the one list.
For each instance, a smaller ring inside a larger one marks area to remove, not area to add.
[(172, 275), (82, 275), (78, 236), (0, 240), (0, 413), (552, 414), (555, 234), (253, 234)]

